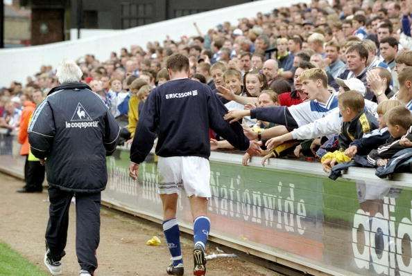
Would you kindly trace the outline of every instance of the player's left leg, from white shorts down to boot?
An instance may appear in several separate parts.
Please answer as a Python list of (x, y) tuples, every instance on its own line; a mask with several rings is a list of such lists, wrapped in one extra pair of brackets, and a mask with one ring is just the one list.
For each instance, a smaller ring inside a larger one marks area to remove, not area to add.
[(157, 167), (160, 174), (158, 184), (163, 205), (163, 232), (166, 237), (172, 264), (166, 269), (169, 275), (183, 275), (182, 250), (180, 249), (180, 230), (176, 210), (178, 206), (178, 185), (180, 177), (180, 158), (159, 158)]

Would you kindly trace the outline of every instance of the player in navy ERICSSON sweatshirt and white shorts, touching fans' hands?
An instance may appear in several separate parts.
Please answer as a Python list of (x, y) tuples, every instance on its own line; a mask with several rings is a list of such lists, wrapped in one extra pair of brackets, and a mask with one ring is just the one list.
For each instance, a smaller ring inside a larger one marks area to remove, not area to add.
[(212, 196), (209, 179), (209, 129), (234, 147), (246, 150), (250, 144), (239, 123), (223, 119), (228, 110), (207, 84), (188, 78), (189, 59), (171, 55), (166, 62), (170, 80), (148, 95), (130, 149), (130, 177), (136, 179), (157, 136), (159, 156), (158, 192), (164, 210), (163, 230), (172, 264), (166, 273), (183, 275), (180, 231), (176, 208), (179, 187), (183, 187), (194, 219), (194, 275), (205, 275), (205, 245), (210, 229), (207, 200)]

